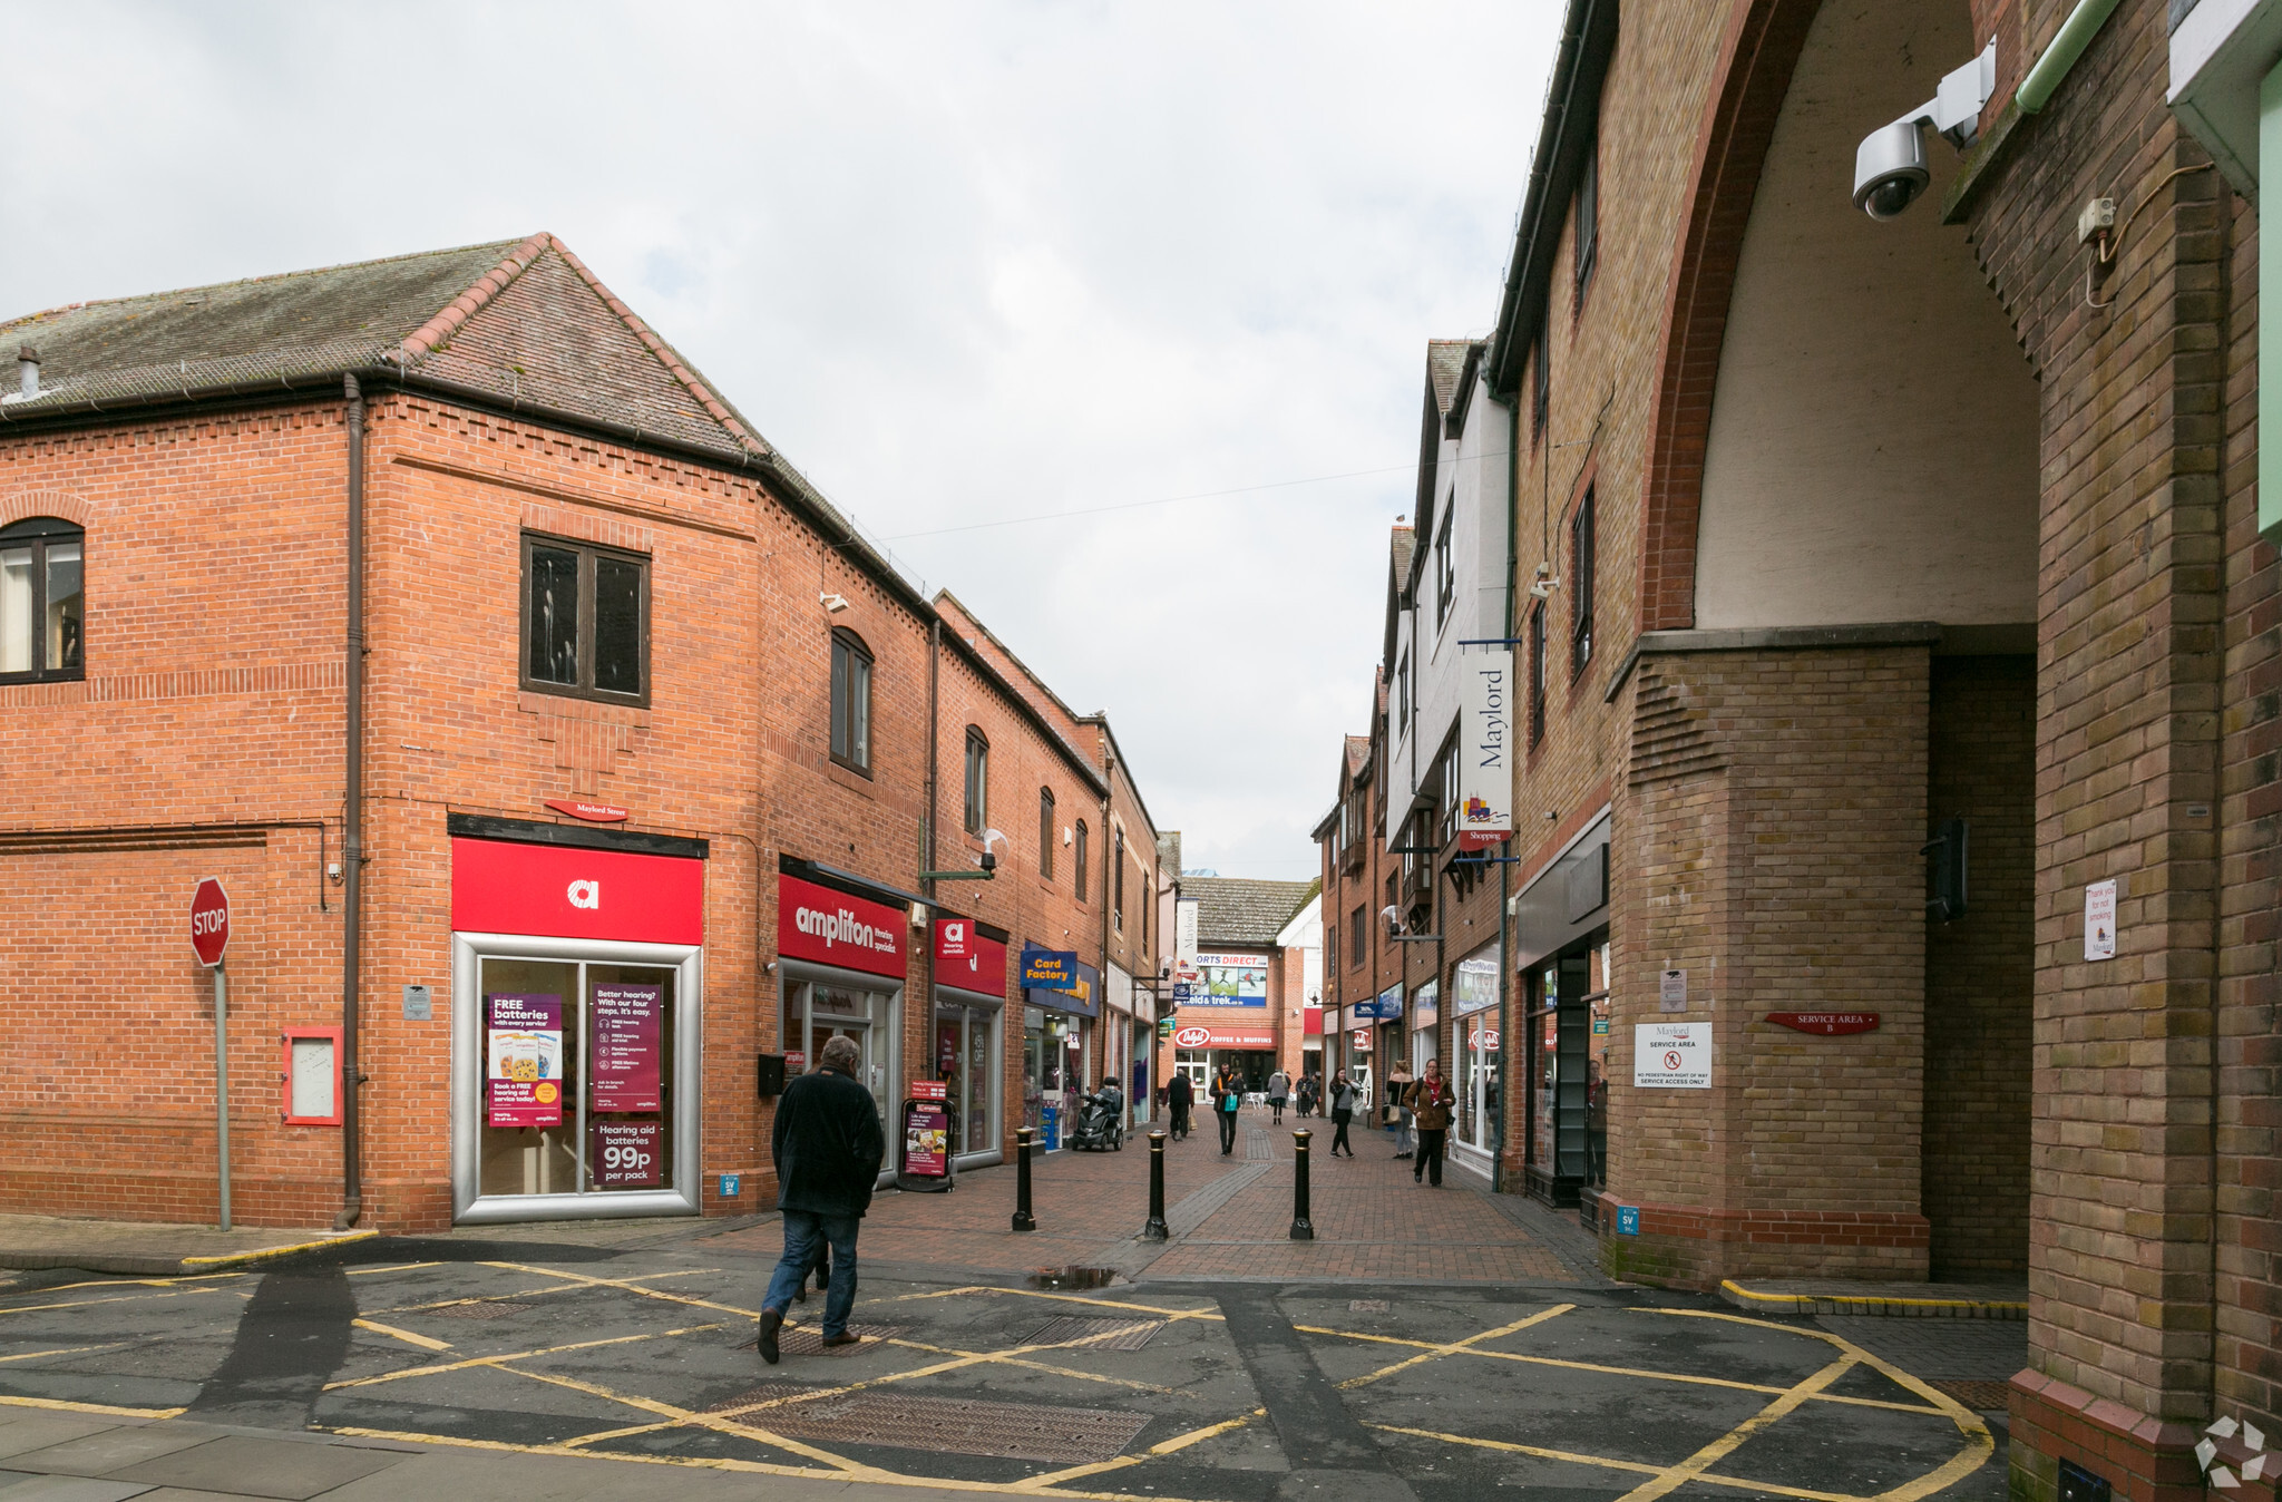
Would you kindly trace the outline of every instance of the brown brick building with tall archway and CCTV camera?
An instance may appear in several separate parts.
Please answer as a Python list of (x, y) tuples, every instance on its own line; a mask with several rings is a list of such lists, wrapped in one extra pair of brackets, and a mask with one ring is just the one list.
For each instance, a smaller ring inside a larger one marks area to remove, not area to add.
[(1572, 0), (1479, 365), (1506, 1182), (1634, 1278), (2026, 1278), (2024, 1495), (2195, 1495), (2282, 1408), (2277, 57), (2239, 0)]

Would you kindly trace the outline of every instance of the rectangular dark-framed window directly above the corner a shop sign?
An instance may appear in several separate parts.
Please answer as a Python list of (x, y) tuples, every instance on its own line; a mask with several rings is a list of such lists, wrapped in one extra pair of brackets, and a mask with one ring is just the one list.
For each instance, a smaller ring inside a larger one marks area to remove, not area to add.
[(650, 559), (527, 534), (523, 687), (609, 703), (648, 703)]

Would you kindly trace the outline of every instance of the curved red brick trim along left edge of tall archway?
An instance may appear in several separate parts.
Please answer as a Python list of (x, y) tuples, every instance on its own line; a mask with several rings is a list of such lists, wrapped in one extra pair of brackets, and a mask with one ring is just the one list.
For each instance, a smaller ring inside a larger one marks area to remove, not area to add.
[(1743, 0), (1721, 39), (1657, 349), (1641, 504), (1641, 630), (1696, 623), (1696, 523), (1727, 301), (1775, 116), (1819, 9), (1821, 0)]

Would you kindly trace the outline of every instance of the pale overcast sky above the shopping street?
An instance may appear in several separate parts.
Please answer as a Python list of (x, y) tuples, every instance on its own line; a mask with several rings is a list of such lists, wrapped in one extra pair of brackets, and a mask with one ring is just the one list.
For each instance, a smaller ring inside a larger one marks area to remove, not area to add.
[(1319, 870), (1426, 340), (1495, 324), (1556, 0), (0, 21), (0, 317), (555, 231), (1109, 712), (1184, 865)]

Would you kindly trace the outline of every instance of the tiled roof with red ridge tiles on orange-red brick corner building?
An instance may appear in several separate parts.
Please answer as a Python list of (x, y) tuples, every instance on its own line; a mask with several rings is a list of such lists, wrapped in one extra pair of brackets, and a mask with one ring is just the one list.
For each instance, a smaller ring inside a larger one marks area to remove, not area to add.
[(71, 304), (0, 322), (0, 340), (37, 349), (41, 365), (39, 395), (0, 399), (9, 422), (370, 372), (723, 459), (774, 454), (548, 233)]

